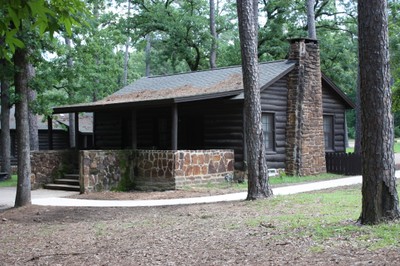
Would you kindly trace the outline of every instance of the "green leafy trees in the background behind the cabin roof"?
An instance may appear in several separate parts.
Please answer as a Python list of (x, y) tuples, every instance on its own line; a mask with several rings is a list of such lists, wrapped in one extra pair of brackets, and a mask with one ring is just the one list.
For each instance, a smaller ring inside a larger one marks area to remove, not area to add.
[[(32, 104), (35, 112), (47, 114), (55, 105), (100, 99), (144, 75), (208, 69), (211, 57), (214, 67), (241, 62), (233, 0), (86, 0), (84, 4), (90, 14), (79, 27), (67, 30), (64, 26), (55, 38), (40, 34), (39, 27), (25, 37), (31, 50), (29, 61), (35, 69), (30, 81), (37, 92)], [(400, 44), (399, 7), (396, 1), (389, 1), (395, 111), (400, 106), (400, 57), (394, 52)], [(322, 71), (353, 100), (357, 81), (356, 8), (354, 0), (317, 0), (314, 6)], [(259, 61), (284, 59), (287, 39), (307, 36), (304, 1), (259, 1), (258, 11)], [(66, 37), (68, 31), (71, 35)], [(15, 36), (0, 42), (9, 40), (15, 41), (9, 45), (11, 50), (19, 45), (20, 39)], [(3, 71), (2, 84), (12, 76), (12, 71)], [(13, 83), (10, 85), (13, 90)], [(395, 124), (399, 125), (400, 115), (395, 114)], [(354, 121), (350, 113), (351, 137)], [(400, 127), (396, 129), (400, 136)]]

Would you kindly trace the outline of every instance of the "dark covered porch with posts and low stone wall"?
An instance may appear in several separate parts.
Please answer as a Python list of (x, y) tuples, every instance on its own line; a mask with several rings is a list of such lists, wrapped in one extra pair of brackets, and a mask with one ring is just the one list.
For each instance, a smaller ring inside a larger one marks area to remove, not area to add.
[[(56, 114), (74, 113), (75, 128), (80, 112), (93, 112), (93, 146), (74, 151), (81, 193), (167, 190), (232, 178), (243, 166), (244, 135), (241, 102), (230, 98), (211, 99), (206, 106), (204, 101), (154, 101), (55, 108)], [(76, 138), (82, 143), (78, 132)], [(52, 179), (60, 172), (46, 171)]]

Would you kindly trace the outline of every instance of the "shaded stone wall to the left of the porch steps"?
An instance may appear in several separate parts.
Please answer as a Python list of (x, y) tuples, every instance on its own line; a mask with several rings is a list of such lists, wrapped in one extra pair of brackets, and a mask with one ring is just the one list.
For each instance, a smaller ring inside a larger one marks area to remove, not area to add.
[(73, 150), (52, 150), (31, 152), (32, 189), (52, 183), (63, 174), (78, 169), (78, 152)]

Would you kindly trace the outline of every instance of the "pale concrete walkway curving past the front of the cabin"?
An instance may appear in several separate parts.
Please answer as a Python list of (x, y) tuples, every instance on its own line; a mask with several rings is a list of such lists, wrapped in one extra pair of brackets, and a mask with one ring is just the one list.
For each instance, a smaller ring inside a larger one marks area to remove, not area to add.
[[(396, 171), (400, 177), (400, 171)], [(273, 189), (274, 195), (289, 195), (327, 188), (361, 184), (361, 176), (353, 176), (335, 180), (313, 182), (307, 184), (279, 187)], [(247, 192), (232, 193), (217, 196), (178, 198), (164, 200), (85, 200), (66, 198), (78, 192), (38, 189), (32, 191), (32, 204), (41, 206), (70, 206), (70, 207), (143, 207), (168, 206), (184, 204), (214, 203), (224, 201), (240, 201), (246, 199)], [(14, 206), (15, 188), (0, 188), (0, 209)]]

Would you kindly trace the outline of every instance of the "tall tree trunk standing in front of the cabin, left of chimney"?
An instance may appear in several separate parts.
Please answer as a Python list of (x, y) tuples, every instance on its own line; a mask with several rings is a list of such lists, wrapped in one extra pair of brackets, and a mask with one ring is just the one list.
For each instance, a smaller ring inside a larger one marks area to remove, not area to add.
[(258, 88), (256, 0), (237, 0), (239, 37), (242, 53), (244, 116), (248, 165), (247, 200), (272, 195), (261, 124), (261, 100)]

